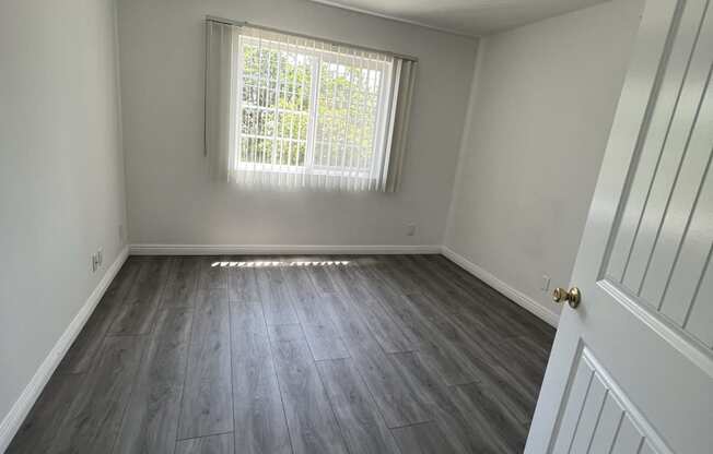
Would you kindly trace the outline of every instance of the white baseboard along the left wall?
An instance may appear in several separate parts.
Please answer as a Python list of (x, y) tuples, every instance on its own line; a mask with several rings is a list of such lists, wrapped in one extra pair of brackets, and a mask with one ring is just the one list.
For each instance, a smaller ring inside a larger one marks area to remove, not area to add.
[(57, 369), (57, 366), (59, 366), (65, 354), (67, 354), (67, 350), (84, 327), (84, 324), (104, 296), (107, 287), (121, 268), (127, 256), (129, 256), (129, 248), (125, 247), (121, 252), (119, 252), (119, 255), (116, 258), (114, 263), (112, 263), (112, 265), (106, 270), (102, 280), (100, 280), (86, 301), (84, 301), (82, 308), (79, 310), (77, 315), (74, 315), (74, 319), (71, 321), (69, 326), (67, 326), (65, 333), (62, 333), (59, 340), (57, 340), (52, 349), (49, 351), (49, 355), (47, 355), (42, 365), (39, 365), (39, 368), (33, 375), (32, 380), (30, 380), (30, 383), (27, 383), (27, 386), (25, 386), (22, 394), (20, 394), (17, 401), (15, 401), (12, 408), (10, 408), (8, 415), (5, 415), (2, 422), (0, 422), (0, 453), (4, 452), (10, 445), (12, 438), (20, 429), (20, 426), (32, 409), (35, 401), (37, 401), (43, 389), (49, 381), (49, 378), (55, 372), (55, 369)]

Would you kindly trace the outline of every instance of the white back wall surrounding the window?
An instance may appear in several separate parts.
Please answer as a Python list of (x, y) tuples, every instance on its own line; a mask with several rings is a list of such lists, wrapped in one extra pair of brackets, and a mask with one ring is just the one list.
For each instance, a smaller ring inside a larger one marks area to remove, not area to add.
[[(255, 192), (209, 181), (206, 14), (419, 57), (401, 191)], [(441, 243), (475, 40), (305, 0), (119, 0), (119, 40), (131, 243)]]

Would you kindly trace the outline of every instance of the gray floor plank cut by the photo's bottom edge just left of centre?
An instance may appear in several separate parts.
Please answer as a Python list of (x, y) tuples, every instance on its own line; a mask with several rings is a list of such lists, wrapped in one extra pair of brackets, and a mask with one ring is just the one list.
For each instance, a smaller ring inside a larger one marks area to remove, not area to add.
[(294, 453), (347, 453), (302, 327), (272, 325), (269, 335)]

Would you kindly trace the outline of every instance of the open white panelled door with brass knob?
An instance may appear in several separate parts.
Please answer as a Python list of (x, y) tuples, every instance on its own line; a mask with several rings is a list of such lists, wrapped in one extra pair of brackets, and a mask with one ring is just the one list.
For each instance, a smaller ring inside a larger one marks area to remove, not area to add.
[(644, 10), (528, 454), (713, 453), (709, 3)]

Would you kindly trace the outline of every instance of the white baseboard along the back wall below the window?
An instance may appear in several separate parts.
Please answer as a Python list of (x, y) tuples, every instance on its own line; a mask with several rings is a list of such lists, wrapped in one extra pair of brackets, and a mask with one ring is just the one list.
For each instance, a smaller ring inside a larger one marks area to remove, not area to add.
[(131, 255), (437, 254), (441, 246), (131, 244)]

